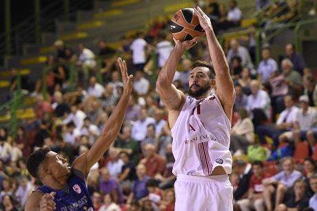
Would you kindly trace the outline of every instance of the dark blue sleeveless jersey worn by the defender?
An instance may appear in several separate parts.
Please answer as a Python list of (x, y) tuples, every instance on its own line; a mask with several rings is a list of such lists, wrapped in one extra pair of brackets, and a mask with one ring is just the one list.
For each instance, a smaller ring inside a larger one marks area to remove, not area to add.
[(56, 203), (57, 208), (56, 210), (94, 210), (85, 180), (76, 175), (74, 170), (72, 170), (70, 177), (68, 178), (67, 185), (63, 188), (63, 190), (55, 190), (46, 185), (41, 186), (37, 190), (43, 192), (43, 194), (56, 192), (54, 197), (54, 202)]

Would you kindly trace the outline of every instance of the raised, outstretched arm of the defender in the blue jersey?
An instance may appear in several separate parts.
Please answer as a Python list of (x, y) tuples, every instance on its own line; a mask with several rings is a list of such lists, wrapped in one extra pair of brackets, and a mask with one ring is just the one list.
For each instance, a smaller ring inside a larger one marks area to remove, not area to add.
[(127, 104), (130, 99), (133, 76), (127, 75), (127, 66), (124, 60), (122, 61), (121, 58), (119, 58), (118, 63), (123, 79), (122, 97), (112, 111), (109, 119), (103, 126), (103, 131), (94, 145), (92, 145), (92, 148), (90, 148), (90, 150), (88, 150), (84, 154), (81, 154), (81, 156), (79, 156), (72, 165), (72, 168), (83, 172), (85, 174), (85, 177), (87, 177), (90, 168), (92, 168), (92, 165), (94, 165), (94, 163), (98, 162), (103, 157), (105, 151), (108, 150), (111, 143), (116, 138), (116, 135), (118, 134), (123, 123), (125, 110), (127, 109)]

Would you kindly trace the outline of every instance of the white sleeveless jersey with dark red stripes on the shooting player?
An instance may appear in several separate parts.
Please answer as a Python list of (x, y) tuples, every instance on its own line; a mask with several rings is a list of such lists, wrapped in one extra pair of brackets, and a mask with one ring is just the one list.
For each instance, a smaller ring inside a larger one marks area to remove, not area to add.
[(187, 97), (172, 128), (173, 174), (209, 176), (218, 165), (232, 172), (231, 122), (216, 94)]

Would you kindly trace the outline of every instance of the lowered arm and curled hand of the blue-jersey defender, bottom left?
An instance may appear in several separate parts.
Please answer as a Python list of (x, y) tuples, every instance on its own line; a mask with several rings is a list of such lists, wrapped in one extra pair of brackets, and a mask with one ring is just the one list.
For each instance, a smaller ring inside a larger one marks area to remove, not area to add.
[(51, 211), (56, 210), (54, 202), (55, 192), (41, 194), (39, 191), (32, 192), (25, 203), (25, 211)]

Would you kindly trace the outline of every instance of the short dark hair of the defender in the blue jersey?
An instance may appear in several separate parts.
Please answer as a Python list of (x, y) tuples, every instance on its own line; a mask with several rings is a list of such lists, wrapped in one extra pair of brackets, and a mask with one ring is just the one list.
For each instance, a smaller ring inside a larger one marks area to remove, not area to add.
[(46, 154), (50, 152), (50, 148), (38, 148), (34, 150), (28, 161), (26, 162), (26, 168), (32, 177), (39, 178), (39, 165), (46, 159)]

